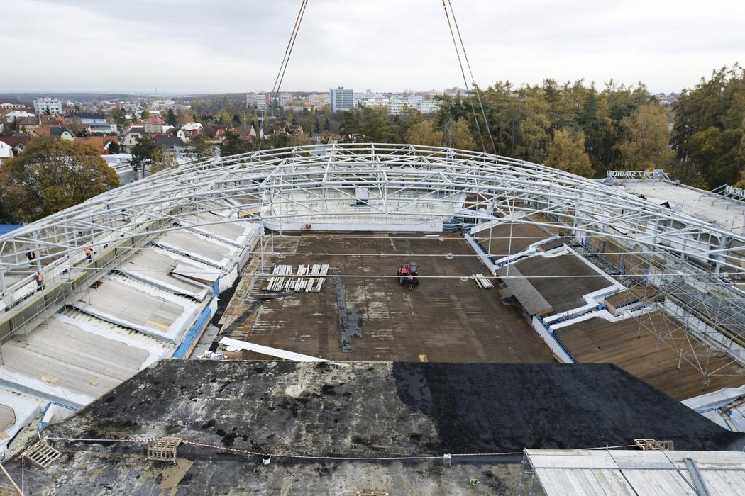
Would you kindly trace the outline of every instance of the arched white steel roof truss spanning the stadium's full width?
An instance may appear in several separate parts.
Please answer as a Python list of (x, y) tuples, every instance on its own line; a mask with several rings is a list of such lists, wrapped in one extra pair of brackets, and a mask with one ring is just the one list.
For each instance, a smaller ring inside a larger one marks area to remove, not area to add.
[[(85, 245), (104, 244), (112, 233), (133, 237), (183, 228), (174, 223), (199, 211), (241, 213), (241, 219), (232, 222), (302, 216), (278, 208), (297, 202), (289, 193), (303, 191), (324, 199), (330, 191), (348, 192), (352, 187), (377, 191), (385, 201), (373, 210), (385, 216), (431, 216), (407, 209), (406, 203), (387, 202), (404, 191), (428, 192), (427, 201), (447, 204), (443, 208), (449, 208), (453, 217), (514, 219), (543, 213), (578, 235), (621, 239), (648, 253), (694, 257), (726, 271), (742, 271), (745, 266), (744, 236), (600, 181), (481, 152), (408, 144), (335, 144), (213, 158), (118, 187), (1, 236), (0, 270), (25, 262), (24, 252), (30, 246), (39, 249), (42, 260), (51, 261)], [(466, 208), (458, 194), (475, 196), (476, 203)], [(315, 210), (315, 214), (333, 217), (340, 211)], [(363, 218), (370, 212), (357, 215)], [(159, 222), (154, 225), (154, 221)]]

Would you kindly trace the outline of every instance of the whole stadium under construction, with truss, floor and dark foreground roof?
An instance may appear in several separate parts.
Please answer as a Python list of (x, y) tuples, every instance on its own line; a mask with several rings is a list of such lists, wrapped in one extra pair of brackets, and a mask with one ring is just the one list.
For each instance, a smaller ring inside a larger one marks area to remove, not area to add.
[(744, 199), (394, 144), (118, 187), (0, 238), (7, 469), (34, 494), (735, 494), (743, 416), (697, 398), (745, 384)]

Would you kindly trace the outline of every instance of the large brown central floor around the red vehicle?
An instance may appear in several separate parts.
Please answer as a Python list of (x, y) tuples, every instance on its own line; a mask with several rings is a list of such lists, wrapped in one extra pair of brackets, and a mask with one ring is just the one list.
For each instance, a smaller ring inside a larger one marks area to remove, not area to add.
[[(296, 272), (301, 263), (329, 264), (323, 290), (264, 302), (232, 338), (335, 361), (551, 361), (516, 307), (500, 303), (495, 289), (462, 280), (486, 270), (460, 236), (275, 236), (273, 250), (284, 258), (265, 258), (266, 271), (275, 263), (292, 264)], [(408, 260), (419, 263), (420, 283), (411, 291), (395, 277)], [(341, 275), (347, 308), (362, 315), (362, 337), (352, 338), (351, 352), (341, 347), (332, 270)], [(232, 317), (266, 295), (265, 286), (261, 278), (248, 294), (239, 289)]]

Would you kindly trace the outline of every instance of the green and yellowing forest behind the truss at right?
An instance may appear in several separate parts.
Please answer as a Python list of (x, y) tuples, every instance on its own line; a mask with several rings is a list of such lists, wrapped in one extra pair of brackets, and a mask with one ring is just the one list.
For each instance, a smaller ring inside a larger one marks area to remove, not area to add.
[(498, 82), (479, 97), (486, 123), (470, 94), (443, 99), (434, 117), (355, 109), (340, 131), (360, 141), (484, 149), (589, 177), (664, 169), (697, 187), (745, 183), (745, 76), (737, 64), (683, 90), (671, 108), (644, 85), (612, 81), (602, 89), (582, 80)]

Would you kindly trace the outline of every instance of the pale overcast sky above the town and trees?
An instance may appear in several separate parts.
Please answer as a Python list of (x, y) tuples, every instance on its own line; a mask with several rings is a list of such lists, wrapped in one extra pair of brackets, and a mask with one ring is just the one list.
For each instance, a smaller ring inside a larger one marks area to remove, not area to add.
[[(450, 1), (481, 86), (612, 78), (669, 92), (745, 63), (743, 0)], [(0, 92), (270, 90), (300, 4), (0, 0)], [(309, 0), (282, 89), (332, 86), (464, 86), (442, 0)]]

